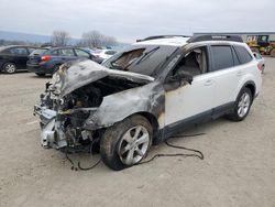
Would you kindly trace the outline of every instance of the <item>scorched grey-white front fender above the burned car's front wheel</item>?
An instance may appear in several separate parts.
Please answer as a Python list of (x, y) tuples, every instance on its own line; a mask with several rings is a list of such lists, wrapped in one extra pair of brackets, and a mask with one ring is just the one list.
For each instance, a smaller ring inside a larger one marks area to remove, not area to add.
[(158, 119), (164, 112), (164, 89), (156, 81), (107, 96), (98, 110), (86, 120), (84, 128), (107, 128), (139, 112), (150, 112)]

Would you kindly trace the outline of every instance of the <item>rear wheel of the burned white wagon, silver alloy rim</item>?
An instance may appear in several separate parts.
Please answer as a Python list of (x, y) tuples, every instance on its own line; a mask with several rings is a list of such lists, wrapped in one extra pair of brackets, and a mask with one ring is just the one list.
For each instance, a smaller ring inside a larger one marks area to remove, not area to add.
[(237, 98), (233, 112), (228, 116), (232, 121), (242, 121), (250, 112), (253, 101), (252, 92), (249, 88), (243, 88)]

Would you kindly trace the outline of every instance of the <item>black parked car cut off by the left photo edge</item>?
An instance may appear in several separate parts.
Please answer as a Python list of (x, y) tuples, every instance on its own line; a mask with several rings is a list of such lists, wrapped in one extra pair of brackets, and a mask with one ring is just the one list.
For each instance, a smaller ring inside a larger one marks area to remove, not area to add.
[(35, 46), (10, 45), (0, 47), (0, 70), (14, 74), (16, 70), (26, 69), (28, 56)]

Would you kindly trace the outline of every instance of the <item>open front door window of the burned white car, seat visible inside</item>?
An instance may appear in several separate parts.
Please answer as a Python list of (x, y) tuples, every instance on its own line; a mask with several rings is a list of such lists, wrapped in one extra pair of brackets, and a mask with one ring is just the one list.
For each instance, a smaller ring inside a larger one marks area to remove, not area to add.
[(187, 53), (187, 55), (176, 65), (173, 74), (183, 70), (191, 76), (205, 74), (208, 72), (208, 55), (206, 47), (197, 47)]

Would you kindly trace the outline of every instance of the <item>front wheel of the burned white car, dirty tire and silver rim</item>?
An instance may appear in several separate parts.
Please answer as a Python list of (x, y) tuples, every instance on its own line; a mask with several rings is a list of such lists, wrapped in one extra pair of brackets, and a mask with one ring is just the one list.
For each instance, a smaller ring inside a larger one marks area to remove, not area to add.
[(103, 163), (114, 171), (136, 165), (152, 145), (153, 129), (148, 120), (135, 115), (108, 128), (100, 140)]

